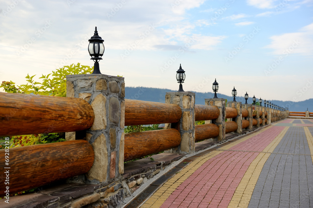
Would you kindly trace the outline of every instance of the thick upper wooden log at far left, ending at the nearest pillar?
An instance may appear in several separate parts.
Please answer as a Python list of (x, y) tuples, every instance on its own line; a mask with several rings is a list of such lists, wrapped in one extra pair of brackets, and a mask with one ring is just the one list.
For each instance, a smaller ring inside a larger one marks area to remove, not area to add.
[(0, 136), (89, 129), (90, 104), (80, 98), (0, 93)]

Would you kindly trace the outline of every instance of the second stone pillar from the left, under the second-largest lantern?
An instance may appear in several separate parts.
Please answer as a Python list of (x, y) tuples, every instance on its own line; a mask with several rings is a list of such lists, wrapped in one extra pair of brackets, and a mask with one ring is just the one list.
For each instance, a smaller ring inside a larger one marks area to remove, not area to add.
[(177, 148), (167, 150), (169, 153), (194, 153), (195, 152), (195, 93), (193, 92), (168, 92), (165, 103), (177, 104), (182, 109), (182, 118), (176, 124), (166, 124), (165, 129), (176, 128), (182, 137)]

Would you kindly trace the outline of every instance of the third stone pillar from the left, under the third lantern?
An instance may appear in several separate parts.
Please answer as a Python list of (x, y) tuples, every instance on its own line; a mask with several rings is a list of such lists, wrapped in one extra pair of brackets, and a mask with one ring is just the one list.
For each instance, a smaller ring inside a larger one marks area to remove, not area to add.
[[(219, 109), (219, 116), (217, 119), (212, 120), (213, 124), (216, 124), (219, 128), (219, 134), (217, 140), (224, 141), (225, 140), (225, 118), (226, 118), (226, 102), (223, 98), (211, 98), (205, 99), (206, 105), (215, 105)], [(205, 121), (205, 124), (210, 123), (209, 121)]]

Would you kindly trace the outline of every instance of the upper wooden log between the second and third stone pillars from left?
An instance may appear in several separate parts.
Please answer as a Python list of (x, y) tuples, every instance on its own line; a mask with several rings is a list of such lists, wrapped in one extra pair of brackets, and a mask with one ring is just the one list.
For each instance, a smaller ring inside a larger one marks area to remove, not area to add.
[(215, 105), (195, 105), (195, 121), (217, 119), (219, 109)]

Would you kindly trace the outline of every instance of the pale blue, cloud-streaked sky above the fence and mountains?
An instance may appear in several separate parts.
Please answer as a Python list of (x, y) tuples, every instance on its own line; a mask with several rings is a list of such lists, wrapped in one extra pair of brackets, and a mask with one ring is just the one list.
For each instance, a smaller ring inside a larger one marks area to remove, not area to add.
[[(80, 62), (95, 26), (102, 74), (126, 86), (302, 101), (313, 98), (312, 0), (0, 2), (0, 81), (25, 83)], [(40, 81), (40, 79), (38, 79)]]

